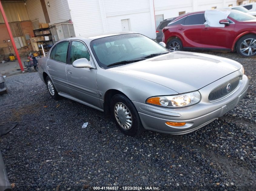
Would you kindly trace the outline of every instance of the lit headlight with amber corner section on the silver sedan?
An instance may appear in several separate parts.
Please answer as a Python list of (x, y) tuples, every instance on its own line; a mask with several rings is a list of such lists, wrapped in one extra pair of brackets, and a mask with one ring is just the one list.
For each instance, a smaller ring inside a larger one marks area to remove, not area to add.
[(150, 97), (146, 103), (163, 107), (185, 107), (198, 103), (201, 94), (198, 91), (172, 96)]

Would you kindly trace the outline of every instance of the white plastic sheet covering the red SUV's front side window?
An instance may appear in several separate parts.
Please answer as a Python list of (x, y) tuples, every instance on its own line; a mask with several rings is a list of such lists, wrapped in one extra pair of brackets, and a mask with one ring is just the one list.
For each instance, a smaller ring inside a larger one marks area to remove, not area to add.
[(219, 10), (206, 10), (204, 17), (206, 22), (205, 25), (209, 27), (225, 27), (225, 24), (220, 24), (220, 20), (227, 19), (230, 11), (219, 11)]

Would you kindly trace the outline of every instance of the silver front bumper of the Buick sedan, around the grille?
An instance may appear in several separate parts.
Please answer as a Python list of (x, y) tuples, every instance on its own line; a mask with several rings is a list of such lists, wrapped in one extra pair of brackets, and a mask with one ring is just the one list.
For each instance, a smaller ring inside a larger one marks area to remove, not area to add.
[[(233, 75), (236, 74), (234, 73)], [(243, 75), (241, 86), (231, 96), (215, 103), (208, 101), (210, 91), (229, 79), (231, 79), (230, 75), (201, 88), (199, 92), (202, 95), (202, 99), (199, 103), (192, 106), (165, 108), (135, 101), (133, 101), (133, 103), (138, 110), (142, 125), (145, 129), (168, 134), (189, 133), (223, 116), (236, 107), (239, 101), (244, 97), (248, 89), (248, 78), (246, 75)], [(168, 121), (186, 122), (186, 124), (180, 127), (169, 126), (165, 123)]]

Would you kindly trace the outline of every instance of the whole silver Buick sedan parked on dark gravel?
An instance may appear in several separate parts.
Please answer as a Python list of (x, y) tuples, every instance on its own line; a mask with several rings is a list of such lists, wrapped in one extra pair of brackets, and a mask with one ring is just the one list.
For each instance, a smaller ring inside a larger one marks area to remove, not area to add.
[(98, 109), (129, 136), (192, 132), (246, 94), (240, 63), (161, 45), (138, 33), (69, 38), (39, 60), (39, 76), (54, 99)]

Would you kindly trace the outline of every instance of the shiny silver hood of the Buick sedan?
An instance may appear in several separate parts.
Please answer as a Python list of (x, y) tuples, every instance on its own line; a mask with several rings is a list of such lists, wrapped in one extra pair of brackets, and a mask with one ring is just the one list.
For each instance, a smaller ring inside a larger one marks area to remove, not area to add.
[(199, 90), (240, 68), (241, 64), (231, 59), (178, 51), (108, 70), (143, 78), (184, 93)]

